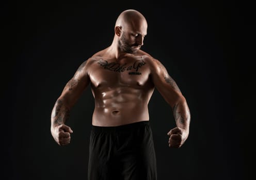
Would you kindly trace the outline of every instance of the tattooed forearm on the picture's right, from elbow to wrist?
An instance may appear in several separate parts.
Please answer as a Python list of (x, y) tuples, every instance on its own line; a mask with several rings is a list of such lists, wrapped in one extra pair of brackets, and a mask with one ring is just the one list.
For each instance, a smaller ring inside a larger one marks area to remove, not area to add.
[(173, 105), (172, 111), (177, 127), (189, 131), (190, 112), (184, 97)]

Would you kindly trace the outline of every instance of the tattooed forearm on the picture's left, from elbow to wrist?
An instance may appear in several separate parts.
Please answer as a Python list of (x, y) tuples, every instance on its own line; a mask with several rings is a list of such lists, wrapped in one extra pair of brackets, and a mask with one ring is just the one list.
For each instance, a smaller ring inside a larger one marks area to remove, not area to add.
[(65, 105), (65, 100), (62, 98), (57, 99), (51, 114), (51, 128), (65, 124), (66, 120), (69, 118), (69, 115), (70, 109), (67, 105)]

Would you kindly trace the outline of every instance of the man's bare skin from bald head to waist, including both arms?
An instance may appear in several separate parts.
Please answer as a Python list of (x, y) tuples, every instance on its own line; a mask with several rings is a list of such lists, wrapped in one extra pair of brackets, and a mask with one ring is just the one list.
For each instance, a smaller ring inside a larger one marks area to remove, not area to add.
[(189, 134), (189, 108), (164, 65), (140, 50), (147, 28), (140, 12), (123, 11), (116, 21), (112, 44), (79, 66), (52, 110), (51, 133), (58, 145), (70, 143), (73, 131), (65, 122), (89, 83), (95, 99), (93, 125), (109, 127), (148, 121), (148, 103), (156, 88), (170, 105), (177, 124), (167, 133), (169, 147), (183, 145)]

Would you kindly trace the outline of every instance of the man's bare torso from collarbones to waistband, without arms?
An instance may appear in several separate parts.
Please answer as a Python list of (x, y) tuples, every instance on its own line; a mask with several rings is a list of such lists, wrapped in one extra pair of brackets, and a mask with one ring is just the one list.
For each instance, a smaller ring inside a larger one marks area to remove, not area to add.
[(88, 60), (88, 75), (95, 99), (93, 125), (117, 126), (149, 120), (148, 103), (154, 85), (148, 59), (140, 53), (119, 60), (104, 56)]

